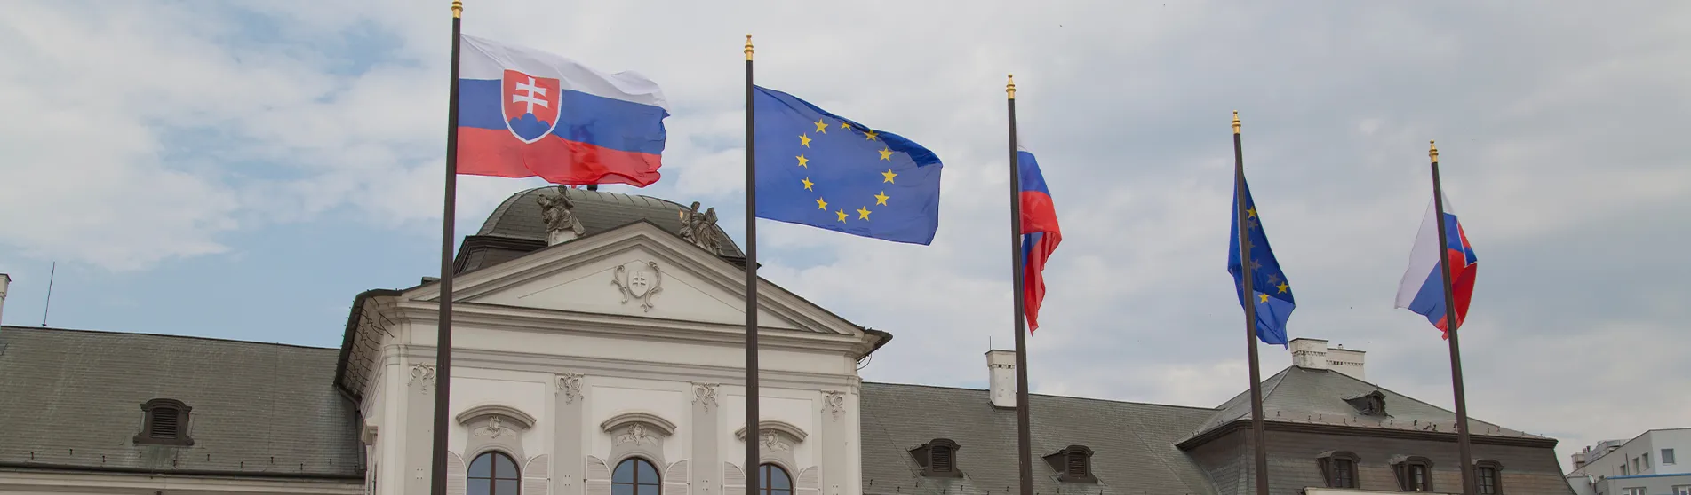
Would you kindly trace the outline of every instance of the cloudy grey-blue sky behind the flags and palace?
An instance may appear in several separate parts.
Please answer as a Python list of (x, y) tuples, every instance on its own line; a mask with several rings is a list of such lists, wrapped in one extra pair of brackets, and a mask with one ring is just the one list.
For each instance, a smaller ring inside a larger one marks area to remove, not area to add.
[[(939, 154), (930, 247), (761, 223), (764, 277), (896, 335), (867, 380), (984, 387), (989, 340), (1011, 343), (1015, 73), (1064, 228), (1035, 392), (1209, 407), (1246, 387), (1224, 267), (1238, 110), (1294, 338), (1366, 350), (1370, 380), (1451, 407), (1446, 343), (1392, 307), (1436, 139), (1480, 258), (1469, 412), (1559, 438), (1564, 465), (1688, 426), (1691, 5), (467, 3), (467, 34), (658, 81), (665, 177), (605, 189), (703, 201), (736, 240), (747, 32), (759, 84)], [(49, 326), (338, 346), (353, 294), (438, 275), (446, 0), (5, 12), (7, 324), (42, 323), (57, 262)], [(538, 184), (460, 179), (458, 233)], [(1261, 353), (1263, 377), (1290, 363)]]

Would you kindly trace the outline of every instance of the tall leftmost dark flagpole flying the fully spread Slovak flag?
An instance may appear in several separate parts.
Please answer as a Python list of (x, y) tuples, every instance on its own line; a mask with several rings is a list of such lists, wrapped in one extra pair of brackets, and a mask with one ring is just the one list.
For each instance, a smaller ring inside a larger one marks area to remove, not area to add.
[(430, 493), (446, 495), (446, 417), (451, 397), (451, 223), (458, 206), (458, 29), (463, 2), (451, 2), (451, 79), (446, 84), (446, 198), (440, 233), (440, 328), (435, 331), (435, 448)]

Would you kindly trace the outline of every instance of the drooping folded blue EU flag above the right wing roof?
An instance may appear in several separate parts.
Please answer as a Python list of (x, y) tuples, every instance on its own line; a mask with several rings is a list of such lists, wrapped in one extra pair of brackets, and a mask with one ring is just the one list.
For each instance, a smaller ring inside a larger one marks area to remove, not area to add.
[[(1243, 181), (1241, 181), (1243, 182)], [(1240, 296), (1240, 304), (1256, 304), (1256, 338), (1270, 345), (1287, 345), (1285, 321), (1292, 318), (1292, 284), (1280, 272), (1280, 262), (1268, 248), (1268, 235), (1263, 233), (1261, 216), (1256, 215), (1256, 201), (1251, 201), (1251, 186), (1245, 184), (1245, 247), (1251, 258), (1251, 296), (1245, 296), (1245, 275), (1240, 272), (1246, 264), (1240, 262), (1240, 199), (1233, 194), (1233, 242), (1228, 243), (1228, 274), (1233, 274), (1233, 289)]]

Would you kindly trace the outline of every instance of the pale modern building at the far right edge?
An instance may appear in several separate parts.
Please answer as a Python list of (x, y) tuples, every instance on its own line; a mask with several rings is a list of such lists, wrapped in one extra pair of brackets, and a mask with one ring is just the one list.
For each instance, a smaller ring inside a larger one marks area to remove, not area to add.
[(1568, 485), (1579, 495), (1691, 495), (1691, 427), (1650, 429), (1573, 454)]

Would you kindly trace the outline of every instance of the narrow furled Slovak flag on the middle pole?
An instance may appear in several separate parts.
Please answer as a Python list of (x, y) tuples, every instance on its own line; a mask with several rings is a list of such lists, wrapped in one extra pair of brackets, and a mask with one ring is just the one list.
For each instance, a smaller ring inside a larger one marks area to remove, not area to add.
[(1057, 206), (1052, 193), (1045, 188), (1045, 176), (1040, 174), (1040, 162), (1033, 152), (1016, 135), (1016, 166), (1021, 191), (1021, 302), (1028, 313), (1028, 333), (1040, 329), (1040, 302), (1045, 301), (1045, 262), (1062, 243), (1062, 228), (1057, 226)]

